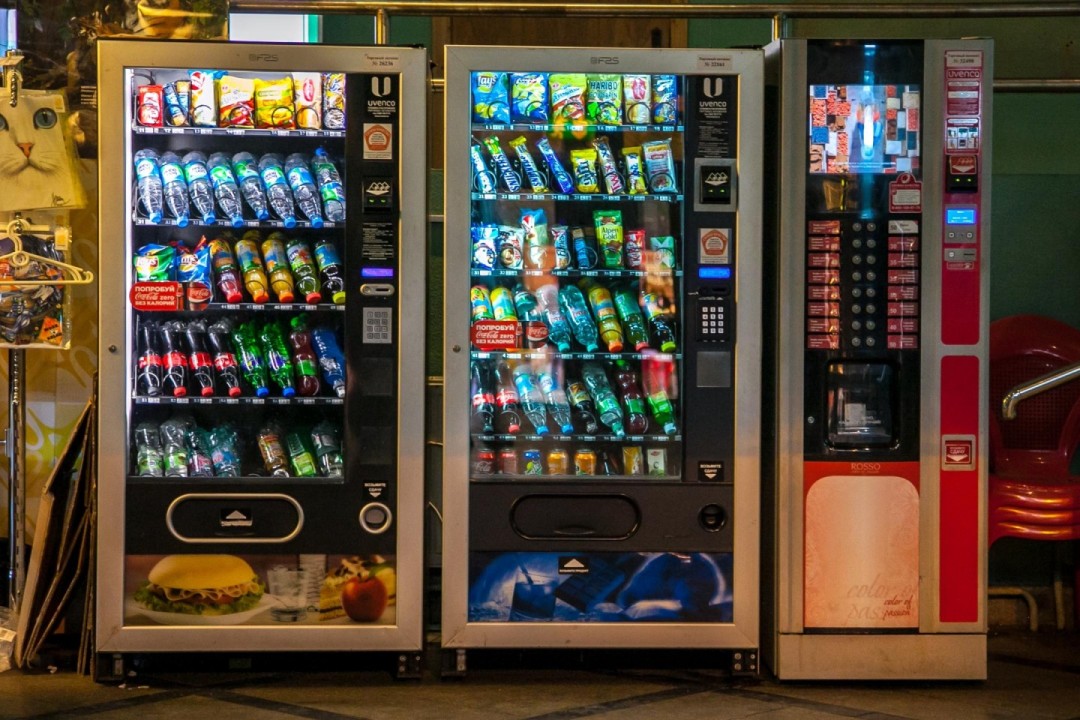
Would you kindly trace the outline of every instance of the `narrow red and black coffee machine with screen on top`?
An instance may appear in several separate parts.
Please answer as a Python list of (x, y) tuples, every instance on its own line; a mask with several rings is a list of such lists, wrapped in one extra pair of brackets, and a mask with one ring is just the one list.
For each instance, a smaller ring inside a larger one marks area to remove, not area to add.
[(993, 44), (767, 56), (767, 660), (782, 679), (985, 678)]

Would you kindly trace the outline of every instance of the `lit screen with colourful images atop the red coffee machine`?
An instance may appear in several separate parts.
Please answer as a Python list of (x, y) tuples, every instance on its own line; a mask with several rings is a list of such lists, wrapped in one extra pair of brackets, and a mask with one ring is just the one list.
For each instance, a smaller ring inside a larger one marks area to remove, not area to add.
[(918, 85), (810, 85), (810, 174), (919, 175)]

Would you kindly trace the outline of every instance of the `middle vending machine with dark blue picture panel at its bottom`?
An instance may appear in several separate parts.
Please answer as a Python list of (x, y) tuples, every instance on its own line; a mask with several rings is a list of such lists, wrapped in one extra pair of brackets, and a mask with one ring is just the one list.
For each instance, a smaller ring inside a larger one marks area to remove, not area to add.
[(457, 669), (567, 647), (756, 669), (762, 71), (750, 50), (447, 47)]

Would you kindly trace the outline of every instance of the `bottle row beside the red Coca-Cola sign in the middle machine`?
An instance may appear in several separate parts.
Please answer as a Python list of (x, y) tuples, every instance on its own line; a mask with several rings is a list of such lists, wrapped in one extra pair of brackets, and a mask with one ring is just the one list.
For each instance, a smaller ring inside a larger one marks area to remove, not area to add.
[(626, 343), (637, 352), (648, 348), (675, 351), (674, 318), (661, 304), (660, 294), (639, 291), (636, 282), (609, 289), (592, 277), (577, 284), (567, 281), (562, 287), (554, 277), (543, 281), (535, 293), (522, 283), (513, 289), (496, 285), (490, 290), (474, 285), (470, 290), (473, 323), (516, 321), (525, 339), (519, 347), (532, 349), (550, 342), (559, 352), (569, 352), (572, 338), (585, 352), (595, 352), (602, 340), (612, 353), (622, 352)]

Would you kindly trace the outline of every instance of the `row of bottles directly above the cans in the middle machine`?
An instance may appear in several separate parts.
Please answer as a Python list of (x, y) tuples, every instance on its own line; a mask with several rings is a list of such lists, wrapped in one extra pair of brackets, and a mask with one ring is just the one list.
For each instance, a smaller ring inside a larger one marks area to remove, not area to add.
[(549, 419), (553, 434), (562, 435), (595, 435), (602, 425), (619, 437), (645, 435), (650, 429), (653, 434), (678, 432), (666, 390), (674, 372), (671, 361), (643, 359), (640, 380), (634, 367), (622, 358), (607, 366), (609, 370), (593, 361), (576, 368), (567, 364), (564, 385), (561, 366), (474, 359), (474, 427), (486, 435), (514, 435), (523, 431), (524, 418), (536, 435), (552, 433)]

